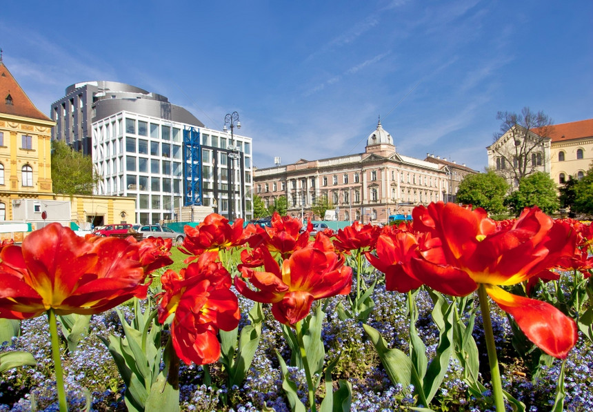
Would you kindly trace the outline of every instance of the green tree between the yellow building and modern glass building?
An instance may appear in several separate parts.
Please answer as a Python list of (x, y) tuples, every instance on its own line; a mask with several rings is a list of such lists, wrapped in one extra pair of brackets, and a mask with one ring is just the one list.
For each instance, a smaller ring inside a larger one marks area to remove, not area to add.
[(52, 184), (54, 193), (92, 195), (101, 176), (92, 165), (92, 157), (72, 150), (61, 140), (52, 141)]

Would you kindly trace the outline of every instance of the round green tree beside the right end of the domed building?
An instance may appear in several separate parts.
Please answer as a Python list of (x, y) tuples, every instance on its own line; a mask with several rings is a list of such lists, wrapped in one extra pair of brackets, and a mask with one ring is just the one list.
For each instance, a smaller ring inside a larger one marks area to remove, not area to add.
[(457, 190), (457, 201), (484, 208), (488, 213), (504, 213), (507, 208), (503, 202), (508, 189), (504, 177), (488, 170), (487, 173), (465, 176)]

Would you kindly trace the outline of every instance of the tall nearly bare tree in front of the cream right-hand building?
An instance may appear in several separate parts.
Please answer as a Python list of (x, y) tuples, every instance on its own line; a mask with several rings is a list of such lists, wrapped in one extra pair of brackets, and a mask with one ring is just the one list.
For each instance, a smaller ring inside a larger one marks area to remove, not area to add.
[(543, 171), (552, 119), (544, 112), (532, 112), (528, 107), (524, 107), (519, 115), (498, 112), (496, 119), (502, 120), (501, 130), (494, 134), (494, 144), (490, 146), (496, 157), (496, 172), (507, 182), (519, 182), (523, 177)]

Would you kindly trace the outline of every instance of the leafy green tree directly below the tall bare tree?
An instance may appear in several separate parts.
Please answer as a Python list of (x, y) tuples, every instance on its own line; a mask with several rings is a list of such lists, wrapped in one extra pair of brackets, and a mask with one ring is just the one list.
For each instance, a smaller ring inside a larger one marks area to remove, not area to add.
[(538, 206), (550, 215), (558, 210), (560, 202), (556, 195), (556, 184), (547, 173), (536, 172), (519, 181), (519, 190), (515, 190), (505, 199), (515, 215), (519, 216), (526, 207)]

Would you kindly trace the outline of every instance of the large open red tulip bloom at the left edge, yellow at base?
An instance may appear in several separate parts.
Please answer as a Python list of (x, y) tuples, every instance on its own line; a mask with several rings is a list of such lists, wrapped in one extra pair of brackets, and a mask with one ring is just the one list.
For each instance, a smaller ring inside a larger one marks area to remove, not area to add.
[[(57, 223), (35, 230), (22, 246), (0, 252), (0, 317), (27, 319), (106, 311), (148, 289), (139, 244), (79, 237)], [(150, 263), (147, 261), (147, 266)]]

